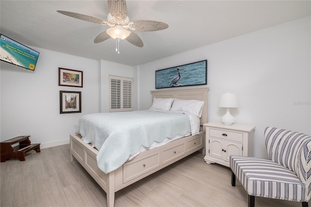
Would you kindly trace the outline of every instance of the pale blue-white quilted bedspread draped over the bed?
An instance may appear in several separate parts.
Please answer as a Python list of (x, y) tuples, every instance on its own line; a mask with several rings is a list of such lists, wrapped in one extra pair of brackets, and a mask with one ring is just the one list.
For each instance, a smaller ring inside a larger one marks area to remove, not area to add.
[(189, 115), (143, 110), (85, 115), (77, 132), (98, 149), (98, 167), (109, 173), (137, 154), (140, 146), (185, 136), (191, 128)]

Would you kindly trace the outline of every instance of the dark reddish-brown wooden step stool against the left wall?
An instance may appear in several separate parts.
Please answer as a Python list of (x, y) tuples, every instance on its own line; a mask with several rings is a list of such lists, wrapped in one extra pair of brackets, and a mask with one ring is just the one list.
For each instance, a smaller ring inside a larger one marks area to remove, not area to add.
[[(19, 161), (25, 161), (25, 153), (35, 150), (40, 152), (40, 144), (31, 144), (30, 136), (19, 136), (0, 142), (1, 162), (5, 162), (10, 158), (18, 158)], [(13, 144), (19, 142), (19, 145), (12, 147)]]

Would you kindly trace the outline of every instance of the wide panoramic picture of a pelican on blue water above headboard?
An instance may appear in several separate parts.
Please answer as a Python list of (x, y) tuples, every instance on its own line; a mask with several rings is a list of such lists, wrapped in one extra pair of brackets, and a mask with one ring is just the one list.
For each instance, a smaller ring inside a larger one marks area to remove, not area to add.
[(155, 88), (207, 85), (207, 60), (155, 71)]

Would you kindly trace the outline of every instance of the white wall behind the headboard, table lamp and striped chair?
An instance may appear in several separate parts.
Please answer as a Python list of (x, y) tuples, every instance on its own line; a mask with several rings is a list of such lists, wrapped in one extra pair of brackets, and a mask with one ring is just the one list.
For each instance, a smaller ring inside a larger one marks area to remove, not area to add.
[(236, 93), (239, 108), (231, 114), (256, 126), (254, 155), (266, 157), (266, 126), (311, 134), (310, 25), (305, 17), (140, 65), (138, 109), (152, 104), (155, 70), (207, 59), (208, 121), (225, 114), (220, 95)]

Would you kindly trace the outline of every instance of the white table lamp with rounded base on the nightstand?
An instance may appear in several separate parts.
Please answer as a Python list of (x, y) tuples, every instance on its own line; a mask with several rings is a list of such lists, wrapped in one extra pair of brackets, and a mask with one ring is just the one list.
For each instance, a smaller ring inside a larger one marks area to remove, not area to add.
[(239, 107), (237, 96), (234, 93), (223, 93), (220, 96), (218, 106), (227, 108), (227, 112), (222, 117), (222, 122), (225, 125), (232, 125), (232, 123), (234, 123), (234, 117), (230, 114), (229, 108)]

